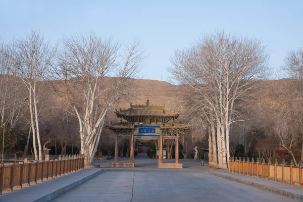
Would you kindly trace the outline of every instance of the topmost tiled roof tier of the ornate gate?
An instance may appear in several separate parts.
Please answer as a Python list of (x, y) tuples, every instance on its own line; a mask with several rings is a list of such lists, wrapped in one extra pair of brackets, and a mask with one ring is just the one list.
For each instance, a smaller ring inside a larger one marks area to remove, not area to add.
[(165, 109), (140, 109), (130, 108), (128, 110), (116, 111), (117, 115), (129, 117), (178, 117), (179, 113)]

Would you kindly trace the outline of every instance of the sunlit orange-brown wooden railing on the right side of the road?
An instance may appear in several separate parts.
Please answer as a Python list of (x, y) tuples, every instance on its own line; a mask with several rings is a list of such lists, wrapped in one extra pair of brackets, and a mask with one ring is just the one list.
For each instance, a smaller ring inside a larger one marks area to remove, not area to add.
[(254, 158), (251, 159), (251, 162), (248, 158), (246, 161), (244, 158), (242, 160), (236, 158), (229, 161), (229, 172), (303, 187), (302, 167), (294, 166), (293, 161), (290, 165), (285, 165), (284, 160), (282, 164), (278, 164), (277, 161), (272, 164), (271, 162), (265, 163), (264, 159), (260, 163), (259, 158), (257, 162), (254, 162)]

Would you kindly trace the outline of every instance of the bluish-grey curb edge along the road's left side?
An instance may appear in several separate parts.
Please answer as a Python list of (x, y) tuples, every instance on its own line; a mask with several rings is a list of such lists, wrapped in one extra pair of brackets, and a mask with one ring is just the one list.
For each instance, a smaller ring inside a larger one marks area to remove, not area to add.
[(57, 196), (63, 194), (64, 192), (67, 192), (67, 191), (71, 190), (72, 188), (78, 186), (79, 184), (82, 184), (83, 182), (95, 177), (96, 175), (98, 175), (102, 172), (104, 172), (104, 169), (100, 169), (99, 171), (97, 171), (95, 173), (92, 173), (92, 174), (90, 174), (90, 175), (88, 175), (88, 176), (86, 176), (86, 177), (84, 177), (84, 178), (82, 178), (82, 179), (80, 179), (76, 182), (73, 182), (73, 183), (71, 183), (71, 184), (69, 184), (65, 187), (62, 187), (62, 188), (60, 188), (56, 191), (53, 191), (52, 193), (48, 193), (45, 196), (42, 196), (42, 197), (40, 197), (40, 198), (38, 198), (34, 201), (35, 202), (46, 202), (46, 201), (52, 200), (52, 199), (56, 198)]

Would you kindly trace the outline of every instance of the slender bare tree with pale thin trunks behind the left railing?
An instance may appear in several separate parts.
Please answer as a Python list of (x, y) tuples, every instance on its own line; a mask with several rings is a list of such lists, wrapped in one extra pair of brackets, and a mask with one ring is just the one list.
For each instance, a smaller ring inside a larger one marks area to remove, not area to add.
[(38, 160), (36, 138), (38, 142), (39, 160), (42, 160), (42, 148), (39, 130), (39, 109), (40, 86), (39, 82), (47, 76), (48, 68), (52, 65), (56, 54), (56, 47), (45, 42), (43, 36), (36, 31), (16, 41), (16, 48), (13, 54), (11, 67), (14, 73), (21, 78), (21, 81), (28, 90), (30, 125), (33, 133), (33, 147), (35, 160)]

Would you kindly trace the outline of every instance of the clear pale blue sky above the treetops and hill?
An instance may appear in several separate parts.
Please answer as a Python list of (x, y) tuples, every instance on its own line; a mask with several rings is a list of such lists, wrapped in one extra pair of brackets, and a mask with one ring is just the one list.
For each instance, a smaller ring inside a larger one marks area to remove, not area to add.
[(270, 65), (279, 68), (285, 52), (303, 41), (303, 1), (9, 1), (0, 0), (0, 35), (4, 40), (40, 29), (56, 42), (63, 34), (94, 30), (147, 48), (141, 74), (167, 80), (165, 68), (176, 48), (204, 32), (261, 38)]

